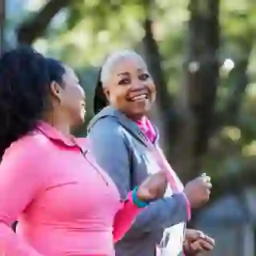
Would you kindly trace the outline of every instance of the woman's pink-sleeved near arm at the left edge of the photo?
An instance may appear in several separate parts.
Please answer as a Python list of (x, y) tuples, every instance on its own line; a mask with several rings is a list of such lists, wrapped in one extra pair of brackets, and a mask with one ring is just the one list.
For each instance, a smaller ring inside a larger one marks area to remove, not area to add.
[(33, 150), (18, 145), (7, 150), (0, 164), (0, 254), (42, 256), (12, 230), (18, 215), (33, 200), (41, 177), (35, 168)]

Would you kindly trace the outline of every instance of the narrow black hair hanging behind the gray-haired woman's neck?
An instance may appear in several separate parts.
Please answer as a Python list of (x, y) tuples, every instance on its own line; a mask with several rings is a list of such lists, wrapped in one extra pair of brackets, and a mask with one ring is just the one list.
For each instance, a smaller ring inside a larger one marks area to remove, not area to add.
[(109, 102), (104, 94), (102, 81), (101, 81), (102, 68), (98, 71), (98, 79), (94, 94), (94, 114), (98, 114), (105, 106), (109, 105)]

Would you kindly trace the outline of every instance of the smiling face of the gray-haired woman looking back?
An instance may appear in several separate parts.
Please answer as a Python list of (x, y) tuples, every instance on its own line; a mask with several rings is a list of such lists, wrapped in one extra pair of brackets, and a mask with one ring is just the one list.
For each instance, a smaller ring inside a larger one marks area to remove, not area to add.
[(155, 101), (154, 82), (145, 62), (137, 54), (116, 60), (103, 87), (110, 105), (129, 118), (141, 118)]

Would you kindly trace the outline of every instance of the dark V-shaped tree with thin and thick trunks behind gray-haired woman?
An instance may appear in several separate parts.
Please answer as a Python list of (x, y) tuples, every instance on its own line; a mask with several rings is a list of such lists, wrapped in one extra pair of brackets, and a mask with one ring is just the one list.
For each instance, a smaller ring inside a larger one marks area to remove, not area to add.
[(167, 155), (172, 156), (170, 162), (175, 170), (178, 170), (183, 181), (187, 181), (202, 171), (202, 157), (207, 151), (213, 122), (219, 67), (219, 2), (190, 1), (189, 38), (186, 44), (189, 56), (186, 62), (186, 83), (182, 90), (182, 94), (186, 95), (182, 95), (182, 106), (178, 106), (182, 107), (182, 111), (174, 109), (166, 87), (161, 67), (162, 57), (154, 39), (154, 22), (150, 17), (154, 7), (154, 2), (147, 2), (142, 42), (150, 73), (158, 86), (158, 114), (167, 142), (165, 149)]

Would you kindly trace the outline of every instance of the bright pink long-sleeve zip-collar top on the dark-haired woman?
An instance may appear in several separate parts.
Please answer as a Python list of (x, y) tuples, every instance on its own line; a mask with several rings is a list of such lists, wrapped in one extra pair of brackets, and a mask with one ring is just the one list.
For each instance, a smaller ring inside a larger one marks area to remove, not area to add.
[(139, 211), (130, 196), (121, 202), (90, 152), (45, 122), (2, 158), (1, 255), (113, 256)]

